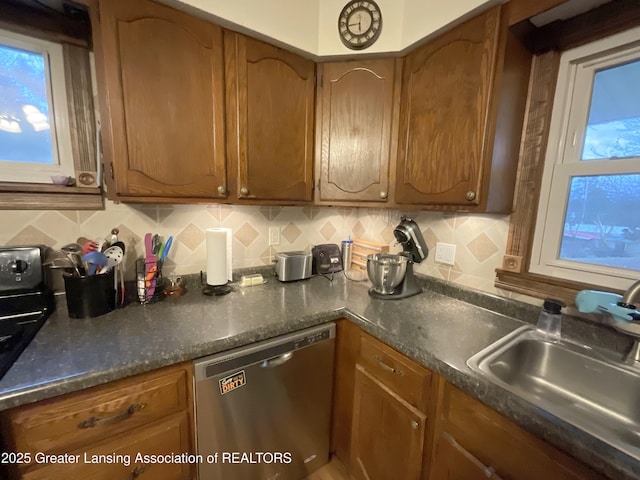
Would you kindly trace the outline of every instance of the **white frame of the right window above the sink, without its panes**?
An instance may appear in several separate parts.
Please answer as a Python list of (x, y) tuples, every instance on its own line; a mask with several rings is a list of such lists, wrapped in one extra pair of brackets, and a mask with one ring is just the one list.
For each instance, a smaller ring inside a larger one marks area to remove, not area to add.
[(636, 270), (559, 259), (571, 177), (640, 173), (640, 157), (580, 160), (596, 71), (640, 59), (640, 28), (564, 52), (551, 115), (529, 271), (624, 290)]

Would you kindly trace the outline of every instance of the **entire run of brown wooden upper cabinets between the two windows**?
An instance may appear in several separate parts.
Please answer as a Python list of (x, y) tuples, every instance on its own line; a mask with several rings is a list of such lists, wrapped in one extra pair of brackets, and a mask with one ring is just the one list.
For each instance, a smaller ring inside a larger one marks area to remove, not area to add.
[(508, 6), (404, 59), (319, 64), (316, 96), (299, 55), (151, 0), (89, 3), (112, 199), (511, 209), (531, 55)]

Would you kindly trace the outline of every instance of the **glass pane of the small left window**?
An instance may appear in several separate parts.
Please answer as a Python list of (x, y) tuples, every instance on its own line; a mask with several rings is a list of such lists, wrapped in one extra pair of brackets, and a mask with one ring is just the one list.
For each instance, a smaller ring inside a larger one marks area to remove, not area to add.
[(53, 164), (44, 56), (0, 45), (0, 160)]

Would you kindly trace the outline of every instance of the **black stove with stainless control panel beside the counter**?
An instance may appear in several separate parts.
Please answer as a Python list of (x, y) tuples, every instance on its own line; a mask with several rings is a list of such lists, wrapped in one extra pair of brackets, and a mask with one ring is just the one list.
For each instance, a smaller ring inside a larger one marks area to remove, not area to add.
[(44, 276), (44, 246), (0, 247), (0, 378), (54, 308)]

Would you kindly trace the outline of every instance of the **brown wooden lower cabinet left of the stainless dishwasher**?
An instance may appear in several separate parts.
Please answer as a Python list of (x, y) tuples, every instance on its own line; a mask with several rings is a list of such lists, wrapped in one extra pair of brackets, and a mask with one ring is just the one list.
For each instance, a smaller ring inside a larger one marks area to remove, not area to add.
[(30, 459), (8, 477), (193, 478), (189, 463), (157, 461), (194, 453), (192, 378), (184, 363), (2, 412), (4, 448)]

